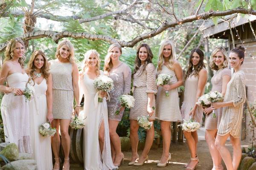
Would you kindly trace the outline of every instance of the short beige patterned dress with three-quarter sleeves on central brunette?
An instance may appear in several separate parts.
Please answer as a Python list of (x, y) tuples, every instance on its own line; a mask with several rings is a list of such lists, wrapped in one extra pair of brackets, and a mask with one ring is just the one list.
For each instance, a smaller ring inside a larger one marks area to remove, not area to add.
[[(143, 71), (144, 65), (141, 65), (139, 70), (134, 74), (134, 92), (133, 96), (135, 99), (135, 105), (131, 108), (130, 118), (137, 120), (139, 116), (147, 116), (147, 106), (148, 106), (148, 93), (157, 93), (156, 84), (156, 69), (152, 63), (147, 64), (145, 70)], [(152, 106), (155, 106), (156, 100), (153, 96)], [(151, 120), (155, 119), (155, 111)]]

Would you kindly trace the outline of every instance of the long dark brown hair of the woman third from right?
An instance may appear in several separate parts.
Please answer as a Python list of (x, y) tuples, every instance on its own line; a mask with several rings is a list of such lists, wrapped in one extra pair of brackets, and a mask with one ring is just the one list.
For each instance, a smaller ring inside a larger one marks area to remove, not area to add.
[[(200, 57), (200, 60), (198, 62), (198, 65), (193, 65), (192, 63), (192, 57), (193, 57), (193, 54), (194, 52), (196, 52), (199, 57)], [(193, 67), (194, 67), (194, 73), (192, 74), (192, 71), (193, 71)], [(191, 54), (190, 54), (190, 57), (189, 57), (189, 68), (188, 70), (186, 71), (186, 75), (185, 75), (185, 80), (190, 76), (190, 74), (192, 75), (195, 75), (195, 76), (198, 76), (199, 74), (199, 71), (201, 71), (202, 68), (205, 68), (205, 64), (204, 64), (204, 52), (202, 50), (200, 50), (199, 48), (194, 48), (192, 51), (191, 51)]]

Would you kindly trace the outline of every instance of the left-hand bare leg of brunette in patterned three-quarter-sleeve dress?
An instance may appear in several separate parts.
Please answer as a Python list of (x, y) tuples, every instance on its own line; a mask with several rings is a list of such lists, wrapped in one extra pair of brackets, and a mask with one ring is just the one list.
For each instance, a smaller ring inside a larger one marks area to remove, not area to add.
[(131, 161), (135, 161), (138, 158), (139, 127), (137, 120), (130, 119)]

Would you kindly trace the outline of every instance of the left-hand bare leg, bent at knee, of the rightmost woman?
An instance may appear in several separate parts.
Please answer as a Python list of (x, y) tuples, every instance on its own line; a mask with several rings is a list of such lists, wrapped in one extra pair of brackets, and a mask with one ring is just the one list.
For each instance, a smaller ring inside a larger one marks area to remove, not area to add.
[(215, 146), (217, 147), (219, 153), (221, 154), (221, 157), (225, 162), (227, 170), (234, 170), (230, 152), (229, 150), (227, 150), (227, 147), (225, 147), (225, 142), (229, 136), (229, 133), (224, 136), (217, 135), (215, 140)]

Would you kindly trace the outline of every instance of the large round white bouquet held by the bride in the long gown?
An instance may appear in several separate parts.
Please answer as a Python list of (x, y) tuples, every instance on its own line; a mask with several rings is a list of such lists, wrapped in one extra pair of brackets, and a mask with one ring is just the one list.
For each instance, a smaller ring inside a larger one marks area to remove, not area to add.
[[(109, 92), (114, 88), (113, 80), (105, 75), (100, 75), (94, 79), (93, 85), (97, 91)], [(98, 102), (102, 102), (101, 97), (98, 97)]]

